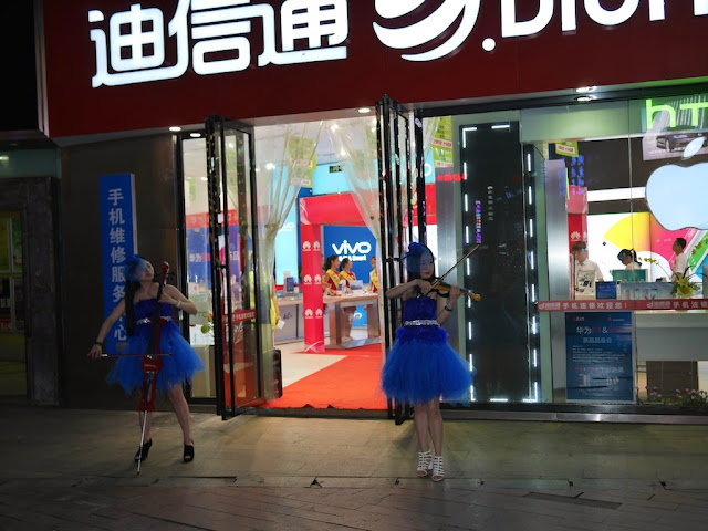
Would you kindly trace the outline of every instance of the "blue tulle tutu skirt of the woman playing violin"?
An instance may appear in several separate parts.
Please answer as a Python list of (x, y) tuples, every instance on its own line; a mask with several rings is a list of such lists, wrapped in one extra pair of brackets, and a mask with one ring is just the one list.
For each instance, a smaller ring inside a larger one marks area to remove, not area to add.
[(447, 340), (436, 325), (398, 329), (382, 374), (386, 396), (412, 405), (468, 399), (472, 372)]

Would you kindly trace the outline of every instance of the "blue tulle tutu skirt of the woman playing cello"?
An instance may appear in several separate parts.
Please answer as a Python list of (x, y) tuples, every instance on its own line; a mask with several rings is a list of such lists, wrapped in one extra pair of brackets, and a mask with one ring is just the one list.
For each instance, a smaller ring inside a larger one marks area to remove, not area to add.
[[(125, 353), (146, 353), (150, 337), (150, 325), (142, 324), (135, 327), (135, 334), (128, 336)], [(204, 369), (201, 360), (191, 345), (181, 336), (179, 327), (171, 322), (163, 323), (160, 327), (160, 352), (169, 356), (160, 356), (163, 367), (157, 373), (157, 388), (163, 393), (175, 385), (191, 382), (192, 376)], [(116, 360), (115, 365), (106, 376), (110, 384), (119, 384), (126, 393), (132, 393), (143, 386), (143, 356), (124, 356)]]

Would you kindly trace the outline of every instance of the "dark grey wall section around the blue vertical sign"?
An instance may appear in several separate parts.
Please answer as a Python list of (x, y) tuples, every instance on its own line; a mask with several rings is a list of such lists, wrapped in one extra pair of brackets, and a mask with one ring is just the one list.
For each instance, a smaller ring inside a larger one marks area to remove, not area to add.
[(86, 357), (106, 316), (103, 272), (111, 267), (102, 259), (100, 180), (116, 174), (134, 176), (136, 251), (157, 266), (167, 261), (179, 273), (184, 220), (177, 209), (173, 142), (171, 135), (162, 135), (62, 149), (61, 313), (66, 355), (60, 363), (62, 398), (69, 407), (135, 407), (135, 399), (119, 386), (106, 385), (112, 362)]

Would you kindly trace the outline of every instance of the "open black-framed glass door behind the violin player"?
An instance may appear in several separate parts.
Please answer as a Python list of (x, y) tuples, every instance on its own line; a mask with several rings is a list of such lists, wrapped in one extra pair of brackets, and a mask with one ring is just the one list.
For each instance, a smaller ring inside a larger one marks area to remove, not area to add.
[[(408, 111), (384, 96), (376, 104), (378, 155), (378, 197), (381, 208), (382, 290), (405, 280), (400, 257), (413, 239), (413, 179), (410, 163), (410, 119)], [(384, 344), (386, 352), (400, 325), (400, 301), (384, 300)], [(396, 424), (409, 417), (405, 404), (388, 400), (388, 416)]]

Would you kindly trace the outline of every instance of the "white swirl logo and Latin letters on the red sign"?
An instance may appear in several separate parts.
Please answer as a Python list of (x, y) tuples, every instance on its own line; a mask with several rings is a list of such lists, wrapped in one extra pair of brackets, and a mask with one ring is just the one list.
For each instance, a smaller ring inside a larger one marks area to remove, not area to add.
[[(387, 21), (396, 21), (409, 15), (423, 6), (425, 0), (376, 0), (378, 15)], [(501, 7), (501, 38), (528, 37), (543, 31), (555, 14), (558, 0), (540, 0), (533, 17), (519, 20), (517, 4), (521, 0), (500, 0)], [(525, 1), (524, 3), (529, 3)], [(535, 3), (535, 2), (531, 2)], [(413, 50), (429, 42), (437, 43), (437, 48), (420, 53), (406, 53), (402, 58), (407, 61), (435, 61), (449, 55), (460, 48), (472, 33), (479, 18), (481, 0), (445, 0), (433, 13), (408, 25), (391, 24), (395, 28), (374, 23), (374, 31), (378, 40), (386, 46), (396, 50)], [(666, 18), (666, 0), (648, 0), (649, 21)], [(629, 20), (639, 8), (639, 0), (624, 0), (615, 9), (606, 9), (601, 0), (560, 0), (561, 29), (563, 32), (577, 29), (577, 10), (584, 9), (593, 21), (601, 25), (620, 25)], [(694, 0), (696, 17), (708, 14), (708, 0)], [(459, 21), (459, 22), (458, 22)], [(452, 32), (451, 28), (457, 27)], [(440, 37), (449, 35), (439, 43)], [(482, 49), (491, 52), (497, 48), (497, 41), (491, 35), (480, 35)]]

